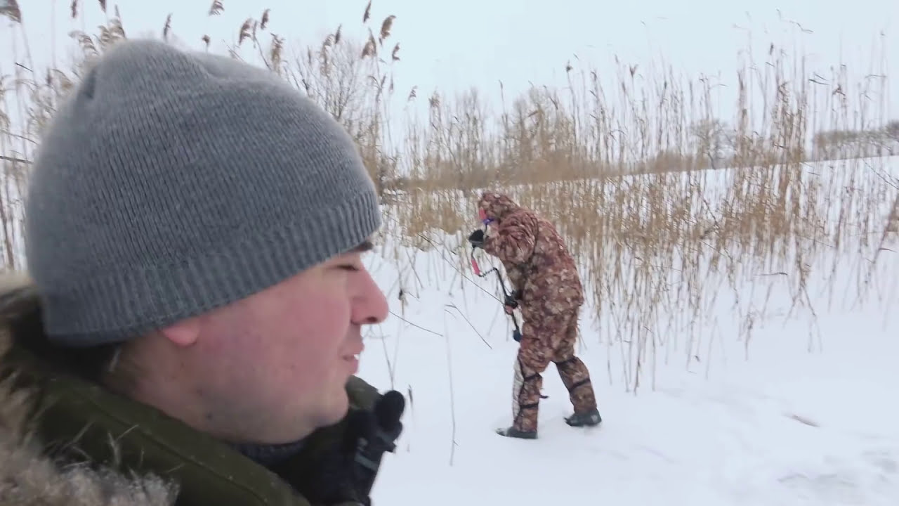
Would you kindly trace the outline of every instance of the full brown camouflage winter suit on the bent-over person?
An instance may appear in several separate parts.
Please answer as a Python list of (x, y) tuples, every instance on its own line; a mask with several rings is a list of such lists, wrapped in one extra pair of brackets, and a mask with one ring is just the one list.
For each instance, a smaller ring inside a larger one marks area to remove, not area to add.
[(485, 237), (484, 250), (503, 262), (524, 324), (515, 364), (512, 428), (537, 430), (543, 373), (550, 362), (568, 389), (575, 413), (596, 409), (590, 373), (574, 356), (583, 286), (574, 259), (549, 221), (503, 194), (486, 193), (478, 206), (497, 227)]

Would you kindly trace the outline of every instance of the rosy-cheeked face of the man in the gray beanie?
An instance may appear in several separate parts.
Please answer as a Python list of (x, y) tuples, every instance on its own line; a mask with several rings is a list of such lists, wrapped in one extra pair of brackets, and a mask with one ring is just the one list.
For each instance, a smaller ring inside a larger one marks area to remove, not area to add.
[(361, 327), (388, 311), (361, 254), (332, 258), (198, 319), (197, 339), (182, 351), (210, 426), (229, 438), (278, 443), (343, 418)]

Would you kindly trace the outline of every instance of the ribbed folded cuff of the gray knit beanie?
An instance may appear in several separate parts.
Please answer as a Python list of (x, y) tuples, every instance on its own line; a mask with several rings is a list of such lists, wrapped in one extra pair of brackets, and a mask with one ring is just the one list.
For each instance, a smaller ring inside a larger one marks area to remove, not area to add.
[(200, 258), (111, 269), (67, 293), (44, 294), (48, 335), (69, 346), (121, 341), (234, 303), (369, 239), (381, 224), (377, 198), (363, 192), (316, 215), (297, 216), (287, 227), (236, 237)]

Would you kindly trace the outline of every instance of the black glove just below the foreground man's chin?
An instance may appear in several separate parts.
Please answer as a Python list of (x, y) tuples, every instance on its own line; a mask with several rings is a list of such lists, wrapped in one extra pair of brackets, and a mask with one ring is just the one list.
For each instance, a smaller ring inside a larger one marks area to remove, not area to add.
[(371, 506), (381, 456), (396, 450), (404, 409), (403, 394), (396, 391), (384, 393), (370, 411), (351, 409), (340, 424), (323, 429), (326, 447), (313, 450), (308, 462), (276, 472), (313, 504)]

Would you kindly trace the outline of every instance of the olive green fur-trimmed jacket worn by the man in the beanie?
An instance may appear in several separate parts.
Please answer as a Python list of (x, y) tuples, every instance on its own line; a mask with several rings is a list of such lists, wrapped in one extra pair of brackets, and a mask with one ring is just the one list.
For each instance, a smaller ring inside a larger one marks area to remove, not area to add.
[[(0, 278), (0, 506), (368, 503), (348, 498), (352, 479), (334, 473), (346, 470), (336, 448), (347, 419), (268, 469), (147, 405), (58, 374), (17, 344), (41, 331), (31, 285)], [(347, 392), (351, 410), (371, 410), (380, 396), (355, 377)], [(322, 490), (337, 497), (314, 499)]]

